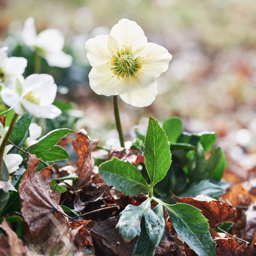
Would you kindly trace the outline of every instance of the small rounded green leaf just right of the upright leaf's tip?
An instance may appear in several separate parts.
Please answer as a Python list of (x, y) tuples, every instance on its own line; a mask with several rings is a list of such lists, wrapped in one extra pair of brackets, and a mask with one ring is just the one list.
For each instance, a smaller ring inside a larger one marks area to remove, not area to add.
[(182, 122), (178, 117), (172, 117), (163, 123), (163, 130), (170, 143), (177, 142), (182, 133)]

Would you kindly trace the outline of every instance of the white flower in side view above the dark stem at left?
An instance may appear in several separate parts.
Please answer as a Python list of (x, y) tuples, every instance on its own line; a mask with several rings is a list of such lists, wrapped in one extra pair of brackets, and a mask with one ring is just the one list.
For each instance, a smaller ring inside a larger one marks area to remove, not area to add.
[(56, 118), (61, 110), (52, 105), (56, 97), (57, 85), (48, 74), (33, 74), (24, 81), (16, 79), (15, 90), (4, 88), (1, 91), (2, 101), (14, 108), (16, 114), (25, 112), (35, 117)]

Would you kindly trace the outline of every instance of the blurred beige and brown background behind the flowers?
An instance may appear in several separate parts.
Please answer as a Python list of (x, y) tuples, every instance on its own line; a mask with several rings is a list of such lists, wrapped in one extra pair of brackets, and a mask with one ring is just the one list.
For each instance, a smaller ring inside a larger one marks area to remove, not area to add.
[(134, 127), (145, 132), (148, 117), (161, 123), (179, 116), (184, 130), (217, 132), (227, 159), (239, 167), (238, 175), (255, 166), (255, 0), (0, 0), (0, 14), (0, 46), (8, 46), (9, 57), (29, 60), (25, 76), (33, 73), (34, 53), (23, 44), (20, 31), (30, 16), (37, 32), (59, 29), (64, 51), (74, 58), (65, 69), (50, 68), (42, 60), (42, 73), (53, 75), (59, 87), (56, 105), (63, 110), (46, 129), (85, 128), (102, 145), (118, 141), (112, 97), (90, 89), (84, 43), (128, 18), (173, 59), (158, 79), (152, 105), (136, 108), (120, 100), (126, 138), (133, 138)]

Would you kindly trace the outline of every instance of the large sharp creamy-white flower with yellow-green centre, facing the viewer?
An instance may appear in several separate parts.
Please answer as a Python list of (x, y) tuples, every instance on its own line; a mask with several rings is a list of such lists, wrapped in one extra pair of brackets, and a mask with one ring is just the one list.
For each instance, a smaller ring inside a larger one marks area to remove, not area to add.
[(137, 107), (154, 101), (156, 78), (172, 59), (164, 47), (147, 42), (142, 28), (128, 19), (121, 19), (109, 35), (89, 39), (85, 48), (93, 67), (91, 89), (106, 96), (119, 94), (124, 102)]

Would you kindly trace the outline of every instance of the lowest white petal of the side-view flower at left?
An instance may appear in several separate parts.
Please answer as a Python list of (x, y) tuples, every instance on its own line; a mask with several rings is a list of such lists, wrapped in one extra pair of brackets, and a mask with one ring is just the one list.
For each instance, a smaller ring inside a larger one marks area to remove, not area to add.
[(61, 114), (61, 110), (50, 104), (48, 106), (38, 106), (34, 103), (22, 99), (24, 108), (34, 117), (54, 119)]

